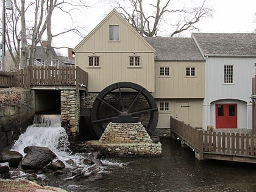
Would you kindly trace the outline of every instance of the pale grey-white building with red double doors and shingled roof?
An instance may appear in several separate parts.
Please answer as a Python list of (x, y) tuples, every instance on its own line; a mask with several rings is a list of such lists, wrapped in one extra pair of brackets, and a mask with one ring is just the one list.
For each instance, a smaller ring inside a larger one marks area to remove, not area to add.
[(256, 34), (193, 34), (205, 62), (203, 127), (252, 129)]

